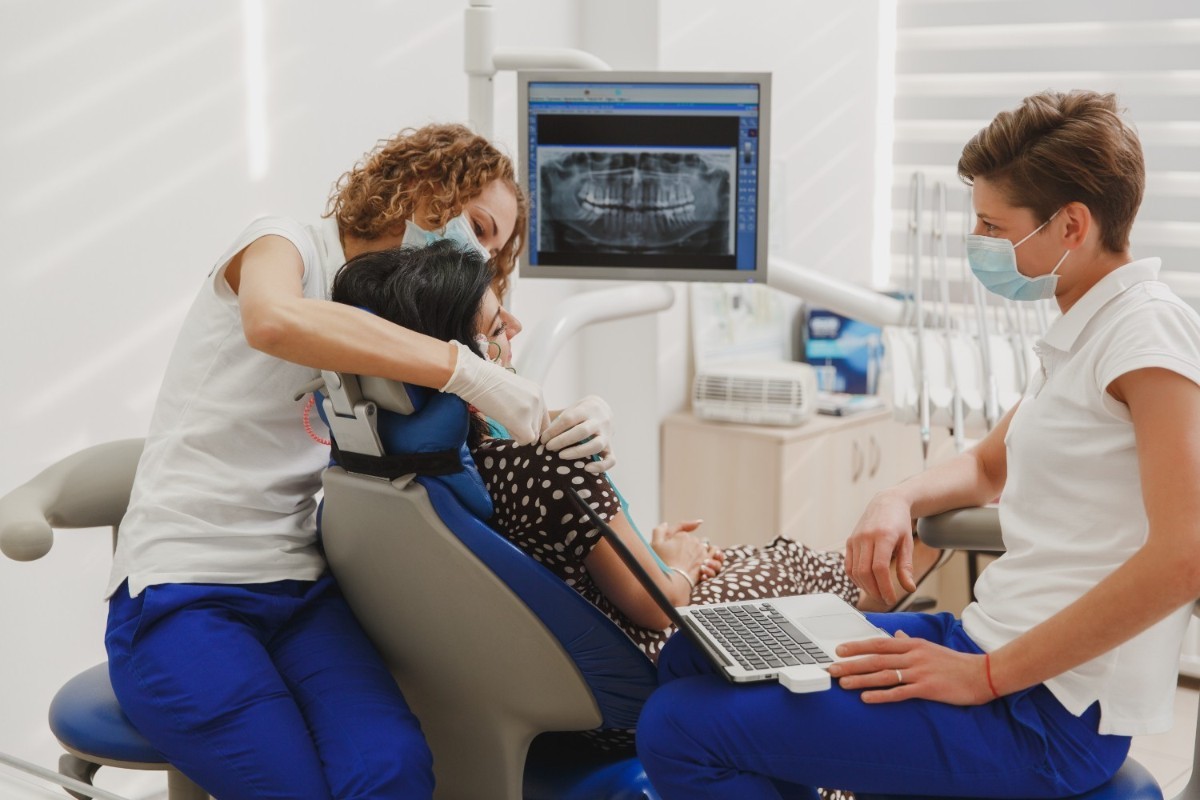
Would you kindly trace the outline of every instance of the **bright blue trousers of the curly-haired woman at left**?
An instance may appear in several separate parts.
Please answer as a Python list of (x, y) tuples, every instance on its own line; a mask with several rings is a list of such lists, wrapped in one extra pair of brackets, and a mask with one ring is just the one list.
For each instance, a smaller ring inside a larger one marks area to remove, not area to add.
[(125, 714), (221, 800), (433, 794), (416, 717), (329, 576), (121, 584), (104, 644)]

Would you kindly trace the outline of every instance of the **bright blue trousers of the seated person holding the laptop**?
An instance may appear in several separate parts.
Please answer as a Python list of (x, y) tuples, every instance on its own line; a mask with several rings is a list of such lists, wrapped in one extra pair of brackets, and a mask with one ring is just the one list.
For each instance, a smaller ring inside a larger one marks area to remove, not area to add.
[[(982, 652), (950, 614), (868, 614), (876, 626)], [(968, 798), (1062, 798), (1109, 780), (1128, 736), (1097, 733), (1044, 686), (976, 706), (869, 705), (838, 686), (793, 694), (730, 684), (684, 636), (659, 660), (662, 686), (637, 723), (637, 752), (664, 800), (805, 798), (812, 787)]]

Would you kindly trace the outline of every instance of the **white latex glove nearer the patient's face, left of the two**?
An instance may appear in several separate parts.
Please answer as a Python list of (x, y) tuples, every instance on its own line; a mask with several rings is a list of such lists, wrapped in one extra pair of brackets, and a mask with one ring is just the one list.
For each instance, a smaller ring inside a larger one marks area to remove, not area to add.
[(458, 349), (458, 360), (442, 391), (457, 395), (503, 425), (520, 444), (538, 441), (539, 434), (550, 425), (541, 386), (498, 363), (480, 359), (462, 342), (450, 344)]

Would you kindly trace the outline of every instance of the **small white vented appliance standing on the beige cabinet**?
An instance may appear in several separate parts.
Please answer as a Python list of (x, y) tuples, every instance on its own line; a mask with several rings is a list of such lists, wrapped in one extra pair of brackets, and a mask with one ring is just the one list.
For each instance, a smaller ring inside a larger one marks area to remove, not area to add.
[(806, 363), (758, 361), (696, 372), (692, 414), (748, 425), (800, 425), (817, 410), (817, 377)]

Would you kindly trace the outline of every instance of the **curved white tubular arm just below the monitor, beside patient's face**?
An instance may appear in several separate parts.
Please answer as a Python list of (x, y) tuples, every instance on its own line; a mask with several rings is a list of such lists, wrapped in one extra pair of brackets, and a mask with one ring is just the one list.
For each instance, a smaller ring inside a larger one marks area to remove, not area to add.
[(593, 323), (640, 317), (670, 308), (674, 289), (666, 283), (641, 283), (584, 291), (558, 303), (524, 338), (517, 372), (534, 383), (545, 383), (550, 365), (575, 333)]

